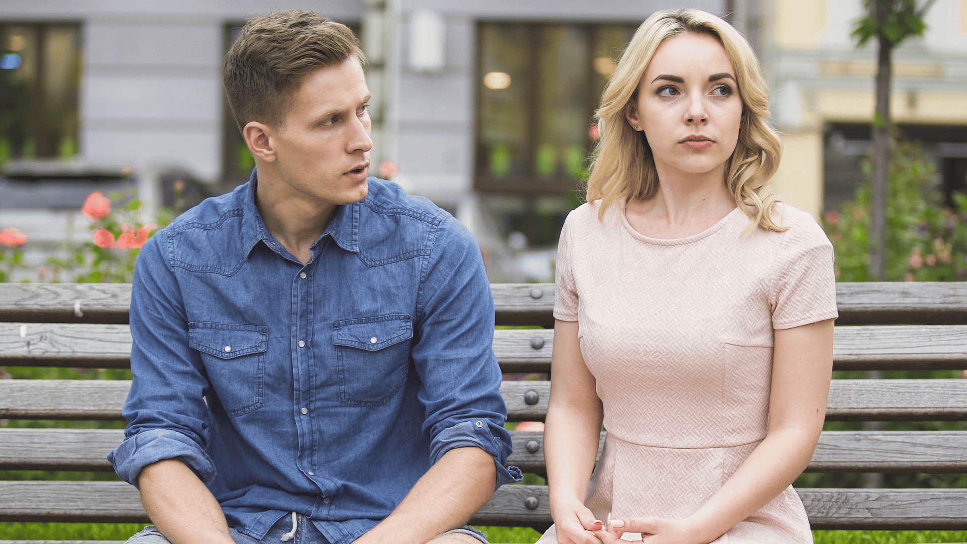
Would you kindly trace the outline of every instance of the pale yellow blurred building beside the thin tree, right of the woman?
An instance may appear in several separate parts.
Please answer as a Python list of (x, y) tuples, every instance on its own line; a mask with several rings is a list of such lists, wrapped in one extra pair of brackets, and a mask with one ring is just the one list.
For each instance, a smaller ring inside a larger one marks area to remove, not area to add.
[[(851, 196), (860, 181), (856, 165), (869, 151), (864, 133), (875, 101), (876, 41), (857, 48), (850, 36), (863, 15), (862, 0), (763, 1), (759, 8), (758, 48), (783, 134), (775, 185), (786, 201), (818, 216)], [(923, 37), (894, 50), (891, 110), (903, 136), (923, 139), (943, 190), (963, 190), (967, 0), (938, 0), (924, 18)]]

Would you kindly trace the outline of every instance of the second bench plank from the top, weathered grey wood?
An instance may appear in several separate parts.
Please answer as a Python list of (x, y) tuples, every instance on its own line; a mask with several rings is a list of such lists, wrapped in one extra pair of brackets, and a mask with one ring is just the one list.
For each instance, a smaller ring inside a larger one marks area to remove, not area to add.
[[(508, 373), (548, 372), (553, 329), (500, 329), (493, 349)], [(127, 325), (0, 323), (0, 365), (127, 368)], [(967, 368), (967, 325), (835, 327), (837, 370)]]

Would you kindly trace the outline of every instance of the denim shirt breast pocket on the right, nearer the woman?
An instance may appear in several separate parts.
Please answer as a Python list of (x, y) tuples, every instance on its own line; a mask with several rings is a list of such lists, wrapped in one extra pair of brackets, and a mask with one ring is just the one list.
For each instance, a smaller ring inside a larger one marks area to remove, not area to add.
[(344, 319), (333, 328), (339, 401), (363, 407), (386, 404), (406, 382), (413, 338), (410, 317)]

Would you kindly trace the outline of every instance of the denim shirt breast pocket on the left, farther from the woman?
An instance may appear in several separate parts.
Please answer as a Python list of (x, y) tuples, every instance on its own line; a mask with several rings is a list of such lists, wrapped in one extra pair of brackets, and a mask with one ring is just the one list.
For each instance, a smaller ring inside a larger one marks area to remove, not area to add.
[(201, 353), (212, 388), (229, 417), (265, 406), (269, 327), (190, 322), (188, 344)]

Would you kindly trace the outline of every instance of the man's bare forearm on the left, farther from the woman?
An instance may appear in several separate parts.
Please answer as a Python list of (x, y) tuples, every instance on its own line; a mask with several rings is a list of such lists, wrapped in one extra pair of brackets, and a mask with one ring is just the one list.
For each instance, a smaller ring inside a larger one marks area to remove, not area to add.
[(219, 501), (184, 463), (168, 459), (137, 477), (141, 503), (171, 544), (233, 544)]

